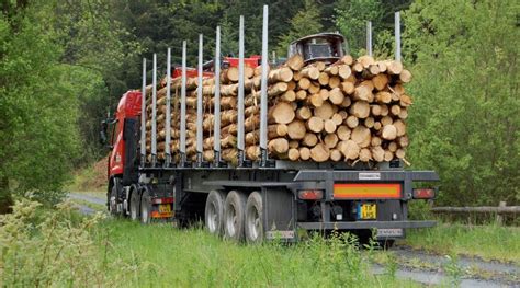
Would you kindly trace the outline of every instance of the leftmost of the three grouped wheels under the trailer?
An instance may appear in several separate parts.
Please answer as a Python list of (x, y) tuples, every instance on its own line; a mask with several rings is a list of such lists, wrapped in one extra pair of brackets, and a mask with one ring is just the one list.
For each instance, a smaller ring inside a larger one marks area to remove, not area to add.
[(218, 191), (210, 192), (206, 199), (206, 208), (204, 211), (204, 219), (206, 230), (211, 234), (222, 235), (224, 227), (224, 201), (226, 196)]

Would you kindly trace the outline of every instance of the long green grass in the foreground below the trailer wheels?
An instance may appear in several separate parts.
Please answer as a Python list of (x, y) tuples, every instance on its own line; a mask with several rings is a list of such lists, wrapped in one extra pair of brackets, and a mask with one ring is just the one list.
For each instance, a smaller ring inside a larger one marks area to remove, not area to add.
[(245, 245), (203, 229), (109, 219), (98, 230), (98, 241), (104, 239), (111, 243), (108, 262), (123, 261), (132, 267), (124, 283), (131, 287), (419, 286), (394, 275), (372, 275), (371, 253), (366, 256), (352, 239), (340, 235), (291, 245), (279, 241)]

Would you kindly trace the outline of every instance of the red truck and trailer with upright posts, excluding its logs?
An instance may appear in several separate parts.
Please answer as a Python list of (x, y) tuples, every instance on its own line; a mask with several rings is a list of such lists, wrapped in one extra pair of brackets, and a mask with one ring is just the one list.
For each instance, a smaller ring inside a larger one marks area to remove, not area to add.
[[(396, 13), (396, 60), (400, 60), (400, 36), (398, 12)], [(371, 42), (371, 35), (368, 43)], [(324, 41), (325, 39), (325, 41)], [(196, 161), (186, 160), (186, 74), (208, 76), (203, 68), (202, 35), (199, 45), (197, 70), (186, 68), (186, 43), (182, 47), (182, 68), (171, 69), (170, 49), (167, 54), (167, 118), (170, 127), (170, 81), (181, 78), (180, 100), (180, 154), (172, 161), (170, 153), (170, 129), (166, 136), (166, 160), (157, 160), (156, 102), (157, 62), (152, 60), (151, 85), (151, 154), (147, 155), (146, 59), (143, 59), (143, 88), (126, 92), (117, 106), (115, 117), (103, 122), (102, 139), (106, 139), (110, 127), (112, 149), (109, 157), (108, 208), (113, 215), (129, 217), (143, 223), (159, 219), (182, 227), (203, 221), (206, 230), (226, 239), (262, 242), (282, 239), (298, 240), (298, 231), (330, 232), (350, 231), (360, 237), (375, 237), (377, 241), (392, 244), (405, 237), (405, 229), (425, 228), (434, 221), (408, 220), (408, 201), (431, 199), (433, 188), (414, 188), (415, 182), (436, 182), (433, 171), (405, 171), (400, 160), (383, 162), (375, 166), (358, 163), (313, 161), (292, 162), (270, 159), (267, 151), (267, 74), (268, 74), (268, 7), (263, 7), (262, 55), (244, 58), (244, 18), (240, 16), (239, 57), (222, 58), (219, 27), (216, 30), (215, 58), (211, 69), (215, 76), (215, 117), (219, 119), (219, 73), (224, 65), (238, 66), (240, 80), (238, 90), (238, 164), (230, 165), (221, 157), (219, 141), (214, 141), (214, 162), (204, 162), (202, 139), (202, 105), (197, 105)], [(306, 62), (328, 60), (334, 62), (343, 56), (343, 37), (336, 33), (308, 36), (291, 44), (290, 56), (299, 53)], [(369, 47), (370, 48), (370, 47)], [(371, 48), (370, 48), (371, 50)], [(259, 161), (249, 161), (244, 153), (244, 65), (260, 65), (260, 149)], [(171, 74), (173, 70), (173, 74)], [(199, 89), (201, 91), (201, 89)], [(202, 92), (197, 94), (202, 102)], [(241, 114), (241, 115), (240, 115)], [(215, 139), (219, 139), (219, 120), (214, 123)], [(140, 152), (139, 152), (140, 151)], [(375, 234), (373, 235), (373, 231)]]

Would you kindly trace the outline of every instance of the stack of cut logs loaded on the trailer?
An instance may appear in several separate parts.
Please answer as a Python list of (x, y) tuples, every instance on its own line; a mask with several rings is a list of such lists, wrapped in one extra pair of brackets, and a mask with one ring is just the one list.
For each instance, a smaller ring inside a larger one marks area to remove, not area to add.
[[(258, 160), (261, 67), (245, 69), (246, 157)], [(221, 74), (222, 159), (237, 161), (238, 69)], [(405, 158), (405, 119), (411, 99), (404, 83), (411, 73), (394, 60), (344, 56), (327, 65), (304, 66), (299, 55), (269, 72), (268, 150), (271, 158), (291, 161), (384, 162)], [(157, 92), (157, 155), (165, 158), (166, 81)], [(171, 153), (178, 155), (181, 80), (171, 81)], [(186, 157), (196, 154), (197, 78), (186, 80)], [(213, 78), (203, 81), (203, 157), (213, 161)], [(150, 153), (151, 100), (147, 93), (147, 153)], [(406, 160), (405, 160), (406, 162)]]

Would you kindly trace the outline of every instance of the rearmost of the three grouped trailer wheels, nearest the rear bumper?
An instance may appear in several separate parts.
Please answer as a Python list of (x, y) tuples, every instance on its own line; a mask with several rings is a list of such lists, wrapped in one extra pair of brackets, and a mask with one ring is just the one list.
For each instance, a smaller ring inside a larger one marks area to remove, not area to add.
[(263, 241), (263, 204), (262, 195), (253, 192), (246, 204), (246, 240), (249, 243)]

